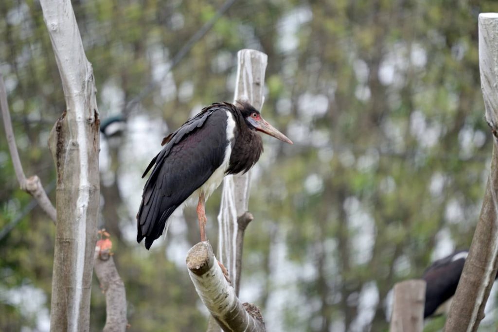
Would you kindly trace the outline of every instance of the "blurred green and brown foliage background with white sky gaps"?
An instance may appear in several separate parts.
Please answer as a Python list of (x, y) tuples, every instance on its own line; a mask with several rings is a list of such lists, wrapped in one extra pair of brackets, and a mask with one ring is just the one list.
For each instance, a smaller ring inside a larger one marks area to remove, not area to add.
[[(128, 331), (205, 330), (185, 268), (195, 211), (175, 213), (150, 251), (135, 241), (134, 216), (162, 137), (233, 100), (242, 48), (268, 55), (262, 113), (294, 145), (263, 137), (241, 300), (261, 307), (268, 331), (386, 331), (394, 283), (472, 240), (492, 150), (477, 17), (493, 3), (74, 0), (102, 123), (120, 124), (101, 135), (99, 224), (114, 242)], [(41, 7), (2, 0), (0, 17), (24, 171), (55, 202), (47, 139), (65, 102)], [(48, 331), (55, 229), (18, 189), (3, 130), (0, 182), (0, 330)], [(214, 245), (220, 192), (206, 209)], [(105, 322), (95, 279), (91, 331)], [(496, 297), (482, 331), (495, 331)]]

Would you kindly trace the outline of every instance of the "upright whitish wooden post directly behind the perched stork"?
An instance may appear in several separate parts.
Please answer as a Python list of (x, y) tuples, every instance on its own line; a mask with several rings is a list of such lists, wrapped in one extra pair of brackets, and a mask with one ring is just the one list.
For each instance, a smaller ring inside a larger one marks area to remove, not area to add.
[[(264, 53), (244, 49), (237, 53), (239, 66), (235, 101), (247, 101), (255, 109), (263, 106), (264, 71), (267, 56)], [(240, 276), (237, 272), (238, 219), (248, 210), (250, 171), (244, 175), (228, 175), (223, 180), (222, 201), (218, 215), (218, 259), (225, 265), (238, 290)], [(239, 262), (240, 263), (240, 262)], [(240, 264), (239, 264), (240, 266)]]

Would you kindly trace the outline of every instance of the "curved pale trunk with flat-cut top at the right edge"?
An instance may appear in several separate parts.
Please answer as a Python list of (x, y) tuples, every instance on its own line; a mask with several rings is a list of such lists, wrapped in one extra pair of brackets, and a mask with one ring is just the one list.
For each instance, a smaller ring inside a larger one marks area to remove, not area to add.
[(497, 274), (498, 256), (498, 13), (479, 15), (479, 67), (486, 121), (493, 134), (491, 171), (479, 222), (445, 331), (477, 331)]

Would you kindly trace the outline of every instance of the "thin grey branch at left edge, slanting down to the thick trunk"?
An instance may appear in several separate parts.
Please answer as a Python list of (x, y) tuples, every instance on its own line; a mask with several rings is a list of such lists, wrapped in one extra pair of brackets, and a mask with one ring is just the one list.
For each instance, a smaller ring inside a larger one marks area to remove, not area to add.
[(3, 117), (3, 126), (5, 128), (5, 135), (7, 136), (8, 149), (10, 151), (10, 156), (12, 158), (12, 164), (14, 165), (15, 175), (19, 186), (22, 190), (29, 193), (34, 197), (38, 205), (43, 209), (43, 211), (50, 217), (52, 221), (57, 220), (57, 212), (47, 197), (45, 190), (41, 184), (40, 178), (33, 175), (32, 177), (26, 179), (24, 175), (24, 170), (22, 169), (21, 160), (19, 158), (19, 152), (17, 151), (17, 146), (15, 144), (14, 131), (12, 129), (12, 121), (10, 120), (10, 112), (8, 110), (7, 103), (7, 92), (5, 90), (5, 83), (3, 82), (3, 76), (0, 74), (0, 107)]

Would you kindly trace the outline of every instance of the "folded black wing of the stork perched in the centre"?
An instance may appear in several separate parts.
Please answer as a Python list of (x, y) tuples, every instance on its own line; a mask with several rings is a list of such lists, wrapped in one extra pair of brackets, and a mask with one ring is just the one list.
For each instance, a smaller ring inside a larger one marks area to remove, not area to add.
[[(227, 112), (214, 104), (185, 122), (167, 137), (166, 145), (150, 162), (136, 216), (137, 236), (145, 247), (161, 236), (169, 216), (201, 187), (225, 157)], [(155, 165), (154, 165), (155, 164)]]

